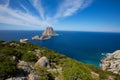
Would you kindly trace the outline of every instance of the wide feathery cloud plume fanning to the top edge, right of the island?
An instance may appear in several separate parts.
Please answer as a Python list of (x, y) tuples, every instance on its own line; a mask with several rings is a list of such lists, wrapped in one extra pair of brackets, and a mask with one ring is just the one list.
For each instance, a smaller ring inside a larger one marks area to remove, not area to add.
[(67, 17), (91, 4), (92, 0), (64, 0), (59, 6), (55, 18)]

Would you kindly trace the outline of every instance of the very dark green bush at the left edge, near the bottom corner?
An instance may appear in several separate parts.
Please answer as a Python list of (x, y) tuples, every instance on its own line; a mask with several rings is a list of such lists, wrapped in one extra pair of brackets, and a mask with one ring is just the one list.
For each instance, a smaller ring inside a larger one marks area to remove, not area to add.
[(9, 58), (5, 58), (0, 56), (0, 77), (1, 78), (8, 78), (11, 76), (15, 76), (18, 72), (16, 67), (16, 63)]

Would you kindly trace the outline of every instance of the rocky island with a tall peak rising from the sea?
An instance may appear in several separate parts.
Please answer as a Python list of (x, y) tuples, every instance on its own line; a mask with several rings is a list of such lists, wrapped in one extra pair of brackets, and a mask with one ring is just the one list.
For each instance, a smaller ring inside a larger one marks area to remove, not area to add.
[(46, 40), (50, 39), (52, 36), (58, 36), (58, 34), (53, 30), (52, 27), (47, 27), (46, 30), (42, 33), (42, 36), (36, 35), (32, 37), (33, 40)]

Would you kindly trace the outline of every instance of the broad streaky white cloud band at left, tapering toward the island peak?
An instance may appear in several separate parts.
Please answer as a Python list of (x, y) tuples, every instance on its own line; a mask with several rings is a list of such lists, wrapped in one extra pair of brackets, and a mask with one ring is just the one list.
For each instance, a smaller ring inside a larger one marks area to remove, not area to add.
[(21, 10), (15, 10), (9, 7), (9, 0), (5, 5), (0, 5), (0, 23), (24, 25), (24, 26), (47, 26), (48, 23), (30, 14), (29, 10), (22, 5), (26, 13)]

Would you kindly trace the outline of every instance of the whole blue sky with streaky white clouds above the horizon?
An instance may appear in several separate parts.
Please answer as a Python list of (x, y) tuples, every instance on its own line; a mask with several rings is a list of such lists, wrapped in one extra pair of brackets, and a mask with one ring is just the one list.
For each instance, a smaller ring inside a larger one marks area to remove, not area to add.
[(0, 30), (120, 32), (120, 0), (0, 0)]

